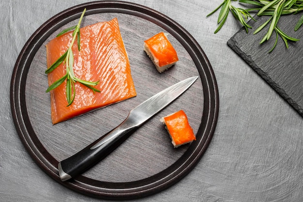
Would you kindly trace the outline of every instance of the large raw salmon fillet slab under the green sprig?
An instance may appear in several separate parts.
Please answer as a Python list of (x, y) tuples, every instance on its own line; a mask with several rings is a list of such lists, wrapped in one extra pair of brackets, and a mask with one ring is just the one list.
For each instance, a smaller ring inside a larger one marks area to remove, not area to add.
[[(50, 91), (51, 119), (53, 124), (87, 113), (93, 109), (136, 96), (131, 76), (130, 63), (121, 37), (117, 18), (80, 29), (80, 47), (72, 47), (74, 53), (74, 74), (76, 78), (100, 83), (94, 88), (101, 93), (75, 83), (76, 96), (68, 105), (66, 81)], [(72, 32), (54, 38), (46, 45), (47, 68), (65, 53), (72, 41)], [(66, 66), (61, 63), (48, 74), (48, 85), (66, 74)]]

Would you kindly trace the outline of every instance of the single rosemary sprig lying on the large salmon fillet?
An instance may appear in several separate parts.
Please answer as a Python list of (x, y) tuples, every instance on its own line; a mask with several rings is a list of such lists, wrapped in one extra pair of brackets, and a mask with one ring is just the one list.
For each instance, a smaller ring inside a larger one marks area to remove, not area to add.
[(84, 9), (84, 11), (82, 12), (82, 15), (80, 16), (79, 22), (76, 26), (73, 26), (71, 28), (67, 28), (63, 31), (61, 31), (58, 36), (61, 36), (62, 34), (74, 30), (72, 36), (72, 42), (70, 44), (70, 46), (68, 47), (68, 49), (66, 50), (66, 52), (61, 55), (61, 57), (54, 62), (47, 70), (45, 70), (45, 74), (49, 74), (50, 72), (52, 72), (54, 69), (56, 69), (62, 62), (66, 65), (66, 74), (62, 77), (59, 78), (58, 80), (56, 80), (54, 83), (52, 83), (46, 90), (46, 93), (48, 93), (49, 91), (57, 88), (58, 86), (60, 86), (65, 80), (66, 80), (66, 100), (67, 100), (67, 107), (70, 106), (75, 99), (75, 95), (76, 95), (76, 91), (75, 91), (75, 83), (79, 82), (83, 85), (85, 85), (86, 87), (90, 88), (94, 93), (98, 92), (100, 93), (100, 91), (96, 88), (94, 88), (93, 86), (97, 85), (99, 83), (99, 81), (95, 81), (95, 82), (91, 82), (91, 81), (85, 81), (85, 80), (81, 80), (79, 78), (76, 78), (74, 75), (74, 54), (72, 51), (72, 47), (75, 43), (75, 40), (77, 38), (77, 46), (78, 46), (78, 51), (80, 51), (80, 24), (82, 21), (82, 18), (84, 16), (86, 9)]

